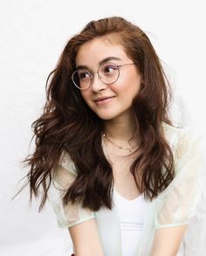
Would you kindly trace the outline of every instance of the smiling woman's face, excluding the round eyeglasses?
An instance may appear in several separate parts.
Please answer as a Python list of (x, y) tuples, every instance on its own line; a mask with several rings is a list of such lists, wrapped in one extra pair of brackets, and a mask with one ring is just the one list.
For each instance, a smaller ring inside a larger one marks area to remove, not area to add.
[[(106, 61), (106, 59), (110, 59)], [(76, 66), (86, 66), (90, 72), (96, 72), (100, 63), (125, 65), (133, 63), (121, 45), (111, 44), (106, 38), (96, 38), (82, 45), (76, 57)], [(104, 64), (104, 65), (105, 65)], [(108, 69), (110, 72), (110, 69)], [(88, 107), (100, 119), (113, 120), (121, 116), (131, 116), (132, 102), (141, 88), (141, 74), (135, 65), (120, 66), (120, 76), (112, 84), (105, 84), (97, 73), (93, 73), (92, 85), (81, 95)]]

